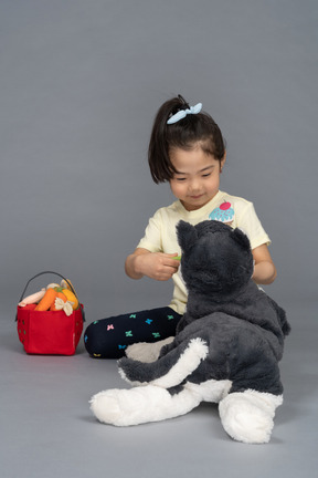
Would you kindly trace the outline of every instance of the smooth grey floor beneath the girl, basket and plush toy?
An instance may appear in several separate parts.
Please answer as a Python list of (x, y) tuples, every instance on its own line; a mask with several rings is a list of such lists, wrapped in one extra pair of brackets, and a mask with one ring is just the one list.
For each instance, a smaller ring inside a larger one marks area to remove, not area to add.
[(317, 477), (316, 305), (286, 308), (285, 403), (267, 445), (230, 439), (210, 404), (157, 424), (102, 425), (88, 399), (127, 386), (116, 361), (89, 358), (82, 342), (71, 357), (26, 355), (12, 316), (1, 316), (1, 477)]

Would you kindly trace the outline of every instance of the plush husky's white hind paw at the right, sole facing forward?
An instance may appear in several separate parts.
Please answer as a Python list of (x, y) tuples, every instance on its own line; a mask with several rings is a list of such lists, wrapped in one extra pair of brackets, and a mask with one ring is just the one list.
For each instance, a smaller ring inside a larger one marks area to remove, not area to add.
[(235, 440), (268, 443), (274, 426), (275, 409), (282, 396), (256, 391), (229, 394), (219, 405), (222, 425)]

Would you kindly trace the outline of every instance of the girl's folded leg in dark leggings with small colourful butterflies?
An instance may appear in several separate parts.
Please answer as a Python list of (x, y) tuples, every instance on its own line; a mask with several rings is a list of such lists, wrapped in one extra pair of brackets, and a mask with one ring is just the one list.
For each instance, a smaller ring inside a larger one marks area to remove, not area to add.
[(98, 320), (84, 333), (85, 347), (96, 358), (119, 358), (130, 344), (176, 335), (180, 319), (180, 314), (166, 306)]

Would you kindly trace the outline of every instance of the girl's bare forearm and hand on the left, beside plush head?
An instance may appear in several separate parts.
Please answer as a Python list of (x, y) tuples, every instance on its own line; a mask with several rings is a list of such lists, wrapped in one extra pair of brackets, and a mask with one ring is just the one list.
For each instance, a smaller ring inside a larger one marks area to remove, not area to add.
[(131, 279), (141, 279), (144, 276), (160, 281), (169, 280), (178, 271), (180, 261), (173, 259), (176, 253), (150, 252), (148, 249), (137, 248), (128, 256), (125, 271)]

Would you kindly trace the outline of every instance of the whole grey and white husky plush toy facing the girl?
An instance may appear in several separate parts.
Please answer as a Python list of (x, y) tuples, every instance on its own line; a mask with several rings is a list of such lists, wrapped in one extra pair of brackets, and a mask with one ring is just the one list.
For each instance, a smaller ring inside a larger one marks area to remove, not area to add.
[(142, 356), (142, 345), (137, 353), (132, 345), (118, 366), (134, 387), (98, 393), (92, 411), (103, 423), (128, 426), (214, 402), (232, 438), (267, 443), (283, 403), (278, 362), (290, 330), (285, 312), (251, 279), (253, 256), (240, 229), (181, 221), (177, 232), (189, 292), (177, 335), (152, 362), (132, 360)]

